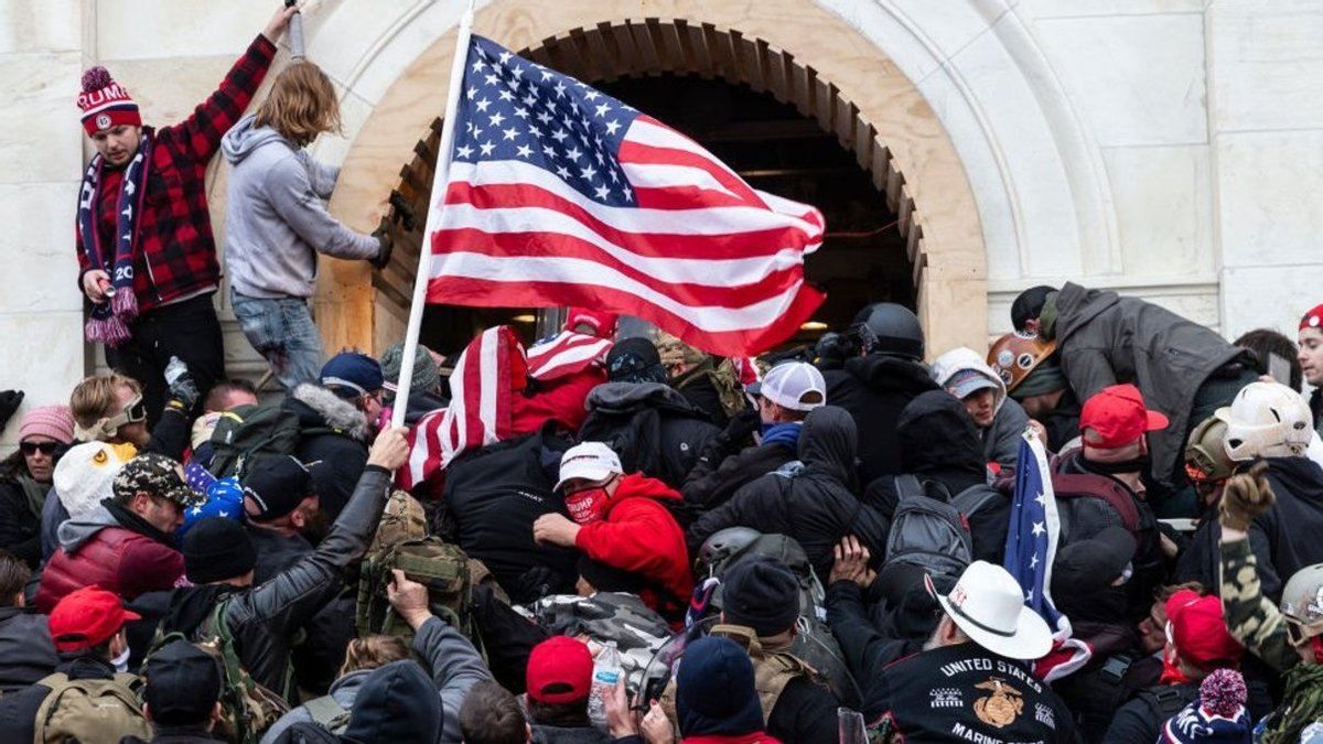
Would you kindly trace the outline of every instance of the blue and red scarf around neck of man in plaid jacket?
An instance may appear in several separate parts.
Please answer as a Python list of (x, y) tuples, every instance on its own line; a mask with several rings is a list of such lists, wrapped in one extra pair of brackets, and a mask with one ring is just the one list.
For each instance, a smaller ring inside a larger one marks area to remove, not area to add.
[(132, 335), (130, 323), (138, 318), (138, 297), (134, 295), (134, 258), (138, 249), (138, 216), (143, 210), (143, 196), (147, 192), (147, 168), (152, 159), (151, 134), (143, 131), (138, 154), (124, 168), (119, 181), (119, 199), (115, 212), (115, 254), (107, 267), (106, 252), (101, 245), (101, 232), (97, 229), (97, 204), (101, 192), (101, 175), (105, 158), (97, 155), (83, 173), (82, 191), (78, 192), (78, 236), (87, 252), (87, 265), (110, 274), (114, 293), (106, 302), (91, 306), (91, 318), (83, 328), (89, 342), (101, 342), (116, 347)]

